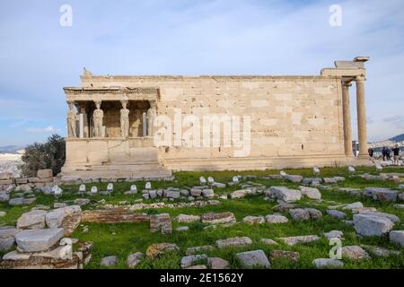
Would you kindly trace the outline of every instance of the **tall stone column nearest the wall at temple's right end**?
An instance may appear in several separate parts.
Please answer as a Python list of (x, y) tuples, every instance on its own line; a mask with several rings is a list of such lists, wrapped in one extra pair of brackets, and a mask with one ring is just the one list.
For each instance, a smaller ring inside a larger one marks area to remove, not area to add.
[(349, 87), (352, 86), (350, 82), (342, 82), (342, 115), (344, 118), (344, 143), (345, 154), (353, 156), (352, 151), (352, 129), (351, 129), (351, 109), (349, 103)]

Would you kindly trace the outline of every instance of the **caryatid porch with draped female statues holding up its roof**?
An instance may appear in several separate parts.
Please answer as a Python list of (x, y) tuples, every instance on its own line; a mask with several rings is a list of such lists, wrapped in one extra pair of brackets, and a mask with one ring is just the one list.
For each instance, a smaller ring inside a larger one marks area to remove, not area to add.
[(66, 165), (80, 178), (164, 178), (153, 144), (157, 88), (65, 88)]

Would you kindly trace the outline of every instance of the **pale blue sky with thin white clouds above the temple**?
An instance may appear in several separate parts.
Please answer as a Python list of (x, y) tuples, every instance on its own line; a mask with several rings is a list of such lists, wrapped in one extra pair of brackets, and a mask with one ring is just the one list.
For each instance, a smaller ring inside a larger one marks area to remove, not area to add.
[[(59, 25), (62, 4), (73, 26)], [(342, 26), (329, 25), (329, 6)], [(368, 138), (404, 133), (404, 2), (22, 1), (0, 4), (0, 145), (66, 135), (62, 88), (93, 74), (320, 74), (366, 64)], [(351, 91), (356, 137), (355, 87)]]

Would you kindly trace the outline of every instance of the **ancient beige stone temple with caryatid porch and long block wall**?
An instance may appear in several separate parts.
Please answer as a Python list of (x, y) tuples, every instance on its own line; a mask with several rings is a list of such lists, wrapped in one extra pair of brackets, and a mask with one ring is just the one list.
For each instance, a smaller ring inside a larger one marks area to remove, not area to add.
[[(312, 76), (110, 76), (66, 87), (65, 177), (364, 164), (364, 62)], [(356, 82), (359, 156), (349, 87)]]

